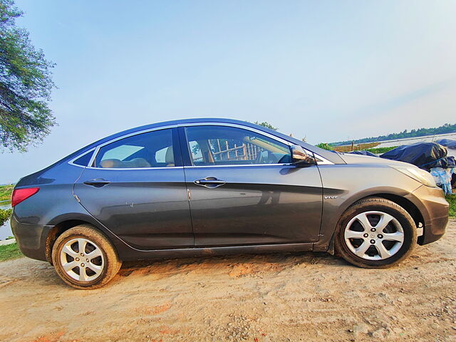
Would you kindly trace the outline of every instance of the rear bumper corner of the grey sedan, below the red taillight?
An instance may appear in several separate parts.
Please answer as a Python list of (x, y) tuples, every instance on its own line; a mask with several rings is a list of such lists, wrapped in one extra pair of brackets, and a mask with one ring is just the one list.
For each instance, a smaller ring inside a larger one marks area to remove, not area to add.
[(14, 215), (11, 216), (11, 231), (21, 252), (31, 259), (46, 259), (46, 237), (53, 226), (40, 224), (27, 224), (18, 222)]

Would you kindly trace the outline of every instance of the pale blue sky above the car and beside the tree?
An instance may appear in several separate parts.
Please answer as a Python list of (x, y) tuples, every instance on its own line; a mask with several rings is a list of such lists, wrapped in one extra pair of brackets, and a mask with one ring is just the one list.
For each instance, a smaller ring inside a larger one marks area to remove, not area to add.
[(311, 143), (456, 122), (456, 1), (16, 4), (56, 63), (59, 125), (4, 152), (0, 183), (177, 118), (265, 120)]

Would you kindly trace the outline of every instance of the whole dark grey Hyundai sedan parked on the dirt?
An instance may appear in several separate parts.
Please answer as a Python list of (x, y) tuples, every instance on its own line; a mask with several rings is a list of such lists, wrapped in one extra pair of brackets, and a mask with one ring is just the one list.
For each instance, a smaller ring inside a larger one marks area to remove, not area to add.
[(385, 268), (448, 222), (442, 190), (414, 165), (227, 119), (93, 142), (19, 180), (12, 206), (21, 251), (77, 289), (138, 259), (319, 251)]

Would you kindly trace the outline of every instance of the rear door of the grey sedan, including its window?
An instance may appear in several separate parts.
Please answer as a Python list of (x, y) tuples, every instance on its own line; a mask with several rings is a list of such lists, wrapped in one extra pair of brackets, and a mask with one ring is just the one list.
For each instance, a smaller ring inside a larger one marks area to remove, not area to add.
[(98, 221), (137, 249), (193, 247), (177, 128), (101, 145), (74, 192)]

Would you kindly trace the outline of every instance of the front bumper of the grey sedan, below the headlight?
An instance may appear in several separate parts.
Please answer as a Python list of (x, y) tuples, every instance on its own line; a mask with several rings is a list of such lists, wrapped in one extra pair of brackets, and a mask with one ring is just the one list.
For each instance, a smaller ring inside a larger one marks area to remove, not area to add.
[(448, 224), (448, 204), (440, 188), (419, 187), (409, 195), (412, 202), (423, 215), (424, 232), (418, 238), (418, 244), (430, 244), (445, 234)]

